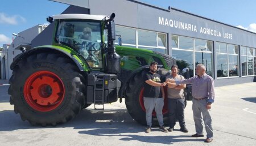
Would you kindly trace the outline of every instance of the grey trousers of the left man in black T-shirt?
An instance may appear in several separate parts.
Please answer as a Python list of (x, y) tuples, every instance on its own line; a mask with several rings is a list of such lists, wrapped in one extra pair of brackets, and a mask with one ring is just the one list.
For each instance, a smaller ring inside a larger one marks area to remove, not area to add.
[(159, 126), (163, 126), (163, 106), (164, 98), (148, 98), (144, 97), (144, 106), (146, 109), (147, 126), (152, 126), (152, 111), (155, 109), (156, 118), (158, 118)]

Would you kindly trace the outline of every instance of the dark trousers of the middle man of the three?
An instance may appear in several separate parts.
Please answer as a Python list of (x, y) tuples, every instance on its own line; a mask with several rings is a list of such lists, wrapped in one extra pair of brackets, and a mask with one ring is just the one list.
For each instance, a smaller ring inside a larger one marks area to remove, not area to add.
[(185, 108), (184, 99), (181, 99), (181, 98), (177, 98), (177, 99), (168, 98), (168, 110), (169, 110), (169, 124), (170, 124), (170, 128), (173, 128), (175, 126), (176, 119), (179, 120), (181, 128), (185, 127), (184, 108)]

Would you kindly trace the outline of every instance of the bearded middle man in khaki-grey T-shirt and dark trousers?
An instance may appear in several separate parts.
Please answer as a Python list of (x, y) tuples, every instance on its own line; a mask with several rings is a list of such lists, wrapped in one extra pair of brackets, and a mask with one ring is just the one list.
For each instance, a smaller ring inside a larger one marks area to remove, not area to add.
[[(176, 79), (176, 80), (184, 80), (182, 75), (178, 74), (179, 67), (174, 65), (171, 67), (172, 74), (166, 76), (167, 79)], [(167, 84), (169, 82), (167, 81)], [(180, 123), (180, 131), (188, 132), (187, 128), (185, 127), (185, 120), (184, 120), (184, 94), (183, 89), (186, 88), (186, 85), (172, 85), (171, 83), (168, 84), (167, 88), (167, 97), (168, 97), (168, 110), (169, 110), (169, 125), (168, 131), (174, 131), (174, 126), (176, 124), (176, 119), (179, 120)]]

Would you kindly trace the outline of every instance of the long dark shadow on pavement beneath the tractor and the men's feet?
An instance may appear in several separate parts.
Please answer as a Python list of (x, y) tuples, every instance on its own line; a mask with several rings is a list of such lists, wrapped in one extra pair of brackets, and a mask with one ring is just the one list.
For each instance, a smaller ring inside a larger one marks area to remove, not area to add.
[[(0, 131), (73, 127), (74, 129), (81, 130), (79, 134), (110, 137), (121, 136), (119, 140), (124, 141), (137, 140), (162, 144), (172, 144), (181, 141), (203, 141), (203, 139), (192, 139), (188, 135), (172, 136), (167, 134), (166, 136), (159, 136), (144, 134), (145, 126), (135, 122), (127, 113), (127, 109), (106, 109), (104, 111), (84, 109), (72, 121), (56, 127), (31, 126), (27, 121), (23, 122), (19, 114), (15, 114), (14, 111), (0, 113), (0, 119)], [(159, 131), (158, 127), (152, 128), (152, 132), (155, 131)], [(143, 135), (139, 134), (141, 132), (143, 132)]]

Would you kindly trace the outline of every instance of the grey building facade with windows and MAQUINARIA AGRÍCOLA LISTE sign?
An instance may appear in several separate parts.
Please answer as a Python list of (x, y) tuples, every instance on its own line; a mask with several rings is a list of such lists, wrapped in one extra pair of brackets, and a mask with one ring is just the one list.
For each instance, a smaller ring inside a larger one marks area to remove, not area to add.
[[(159, 51), (177, 58), (180, 69), (203, 63), (216, 86), (256, 78), (256, 33), (189, 12), (138, 1), (88, 1), (90, 14), (115, 12), (117, 34), (125, 46)], [(101, 5), (98, 5), (101, 3)]]

